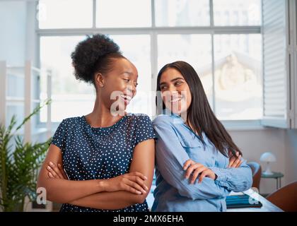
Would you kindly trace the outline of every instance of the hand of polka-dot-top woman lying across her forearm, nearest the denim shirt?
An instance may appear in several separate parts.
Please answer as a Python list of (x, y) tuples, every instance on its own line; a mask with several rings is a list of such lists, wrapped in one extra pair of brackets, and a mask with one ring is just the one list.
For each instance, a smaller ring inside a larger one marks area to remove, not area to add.
[(117, 177), (103, 180), (105, 191), (129, 191), (134, 194), (146, 194), (148, 187), (144, 184), (147, 178), (141, 172), (129, 172)]

